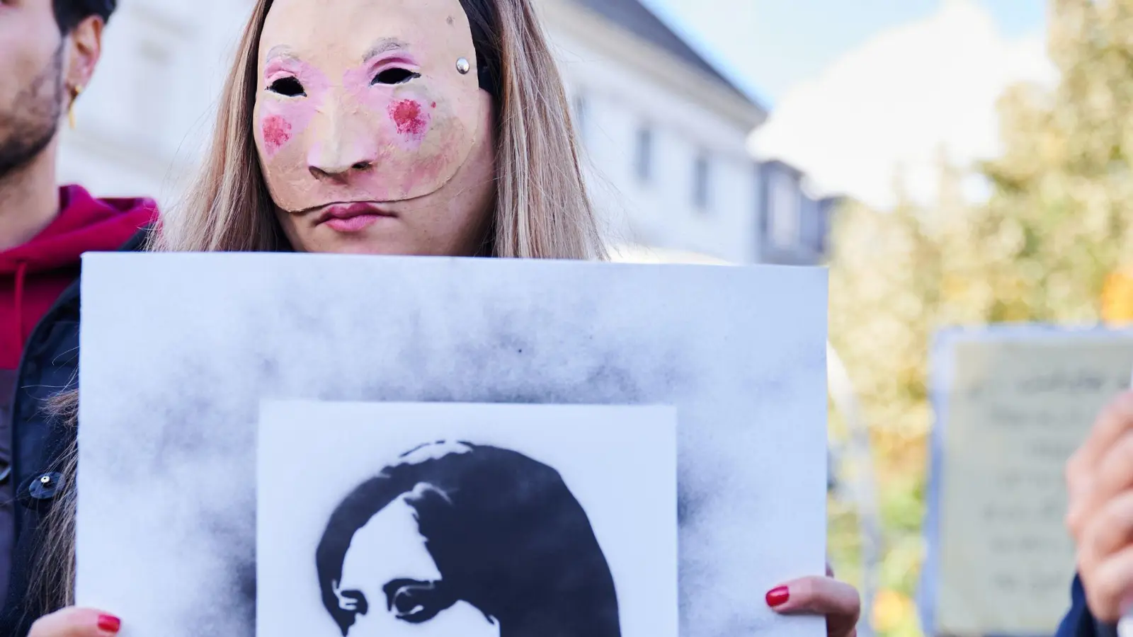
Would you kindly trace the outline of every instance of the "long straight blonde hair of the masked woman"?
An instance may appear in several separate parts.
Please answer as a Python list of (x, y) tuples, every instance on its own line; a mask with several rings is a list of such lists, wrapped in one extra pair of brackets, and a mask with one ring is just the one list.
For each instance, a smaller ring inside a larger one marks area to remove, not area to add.
[[(562, 78), (533, 0), (460, 0), (472, 24), (480, 65), (497, 83), (496, 196), (486, 254), (527, 258), (606, 258), (583, 184)], [(173, 214), (151, 235), (150, 250), (290, 250), (259, 167), (253, 130), (259, 33), (272, 0), (257, 0), (218, 105), (213, 137), (196, 179)], [(50, 410), (76, 425), (78, 392)], [(77, 444), (54, 465), (69, 478)], [(58, 496), (29, 595), (49, 610), (74, 603), (75, 490)]]

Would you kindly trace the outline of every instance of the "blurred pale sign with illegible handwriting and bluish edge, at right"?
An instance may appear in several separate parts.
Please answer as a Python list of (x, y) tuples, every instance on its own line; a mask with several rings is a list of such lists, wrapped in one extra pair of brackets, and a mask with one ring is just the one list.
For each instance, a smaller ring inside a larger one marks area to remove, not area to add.
[(931, 370), (926, 631), (1048, 635), (1074, 576), (1064, 466), (1128, 387), (1133, 332), (948, 330)]

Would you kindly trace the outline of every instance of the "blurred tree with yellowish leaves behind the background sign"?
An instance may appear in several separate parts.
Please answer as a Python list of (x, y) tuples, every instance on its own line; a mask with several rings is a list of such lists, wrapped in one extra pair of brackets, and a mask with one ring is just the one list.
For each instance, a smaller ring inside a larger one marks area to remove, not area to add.
[[(931, 204), (850, 204), (835, 224), (830, 340), (870, 426), (885, 529), (878, 632), (920, 634), (912, 598), (922, 559), (926, 372), (932, 333), (998, 322), (1133, 318), (1133, 0), (1054, 0), (1058, 83), (1000, 101), (1003, 147), (977, 167), (990, 198), (940, 162)], [(959, 45), (959, 44), (957, 44)], [(898, 181), (900, 182), (900, 181)], [(832, 413), (834, 435), (844, 425)], [(851, 507), (832, 509), (835, 564), (857, 575)]]

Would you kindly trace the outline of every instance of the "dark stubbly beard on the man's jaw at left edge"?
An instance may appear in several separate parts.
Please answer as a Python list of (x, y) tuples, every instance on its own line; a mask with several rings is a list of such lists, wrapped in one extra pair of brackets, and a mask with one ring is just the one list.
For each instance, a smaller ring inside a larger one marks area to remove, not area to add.
[(0, 111), (0, 179), (29, 163), (48, 147), (62, 114), (63, 46), (16, 94), (10, 111)]

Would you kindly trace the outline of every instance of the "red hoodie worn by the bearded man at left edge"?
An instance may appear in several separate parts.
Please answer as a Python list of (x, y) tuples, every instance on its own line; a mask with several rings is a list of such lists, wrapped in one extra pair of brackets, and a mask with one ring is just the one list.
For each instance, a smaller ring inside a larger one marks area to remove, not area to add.
[(35, 324), (78, 278), (85, 252), (117, 250), (156, 219), (148, 198), (96, 199), (59, 188), (59, 215), (32, 240), (0, 252), (0, 370), (15, 370)]

